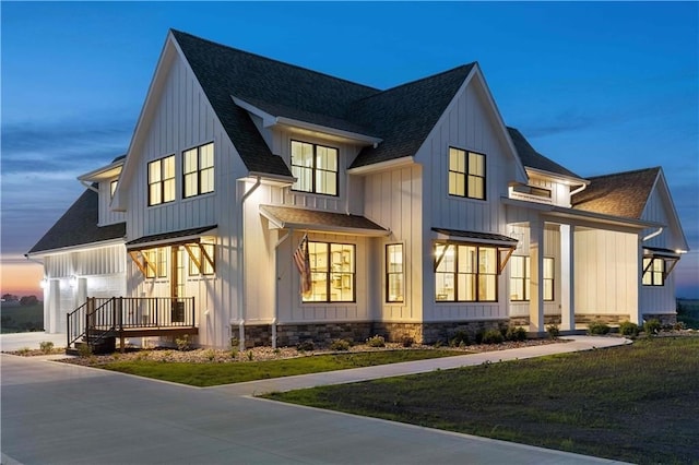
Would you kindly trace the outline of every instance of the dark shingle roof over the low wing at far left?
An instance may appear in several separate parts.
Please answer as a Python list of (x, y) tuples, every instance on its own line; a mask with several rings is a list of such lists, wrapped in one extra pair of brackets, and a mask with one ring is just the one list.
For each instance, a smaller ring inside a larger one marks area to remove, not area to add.
[(44, 252), (64, 247), (82, 246), (126, 236), (126, 223), (98, 227), (98, 196), (87, 189), (58, 222), (29, 250)]

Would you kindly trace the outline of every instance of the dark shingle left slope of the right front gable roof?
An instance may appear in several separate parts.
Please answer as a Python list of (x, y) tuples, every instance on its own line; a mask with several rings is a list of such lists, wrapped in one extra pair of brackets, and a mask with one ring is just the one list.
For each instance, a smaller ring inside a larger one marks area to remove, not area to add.
[(352, 168), (415, 155), (474, 65), (464, 64), (354, 103), (348, 119), (370, 128), (383, 142), (376, 148), (365, 147)]

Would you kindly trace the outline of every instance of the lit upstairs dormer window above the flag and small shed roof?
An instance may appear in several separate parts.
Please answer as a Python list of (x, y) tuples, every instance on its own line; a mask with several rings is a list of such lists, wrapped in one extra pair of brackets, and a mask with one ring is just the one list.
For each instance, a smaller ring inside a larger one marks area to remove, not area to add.
[(337, 195), (337, 148), (292, 141), (295, 191)]

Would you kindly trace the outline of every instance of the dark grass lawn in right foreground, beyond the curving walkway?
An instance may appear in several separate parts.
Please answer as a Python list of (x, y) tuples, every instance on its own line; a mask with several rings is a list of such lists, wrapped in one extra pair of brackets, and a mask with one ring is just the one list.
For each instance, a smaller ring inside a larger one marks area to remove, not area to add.
[(264, 395), (641, 464), (699, 463), (699, 337)]

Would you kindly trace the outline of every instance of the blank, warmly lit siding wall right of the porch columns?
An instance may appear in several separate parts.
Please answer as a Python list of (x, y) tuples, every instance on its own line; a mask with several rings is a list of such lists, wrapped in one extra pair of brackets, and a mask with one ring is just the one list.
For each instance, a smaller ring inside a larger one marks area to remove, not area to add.
[(573, 240), (576, 313), (636, 314), (638, 237), (578, 227)]

